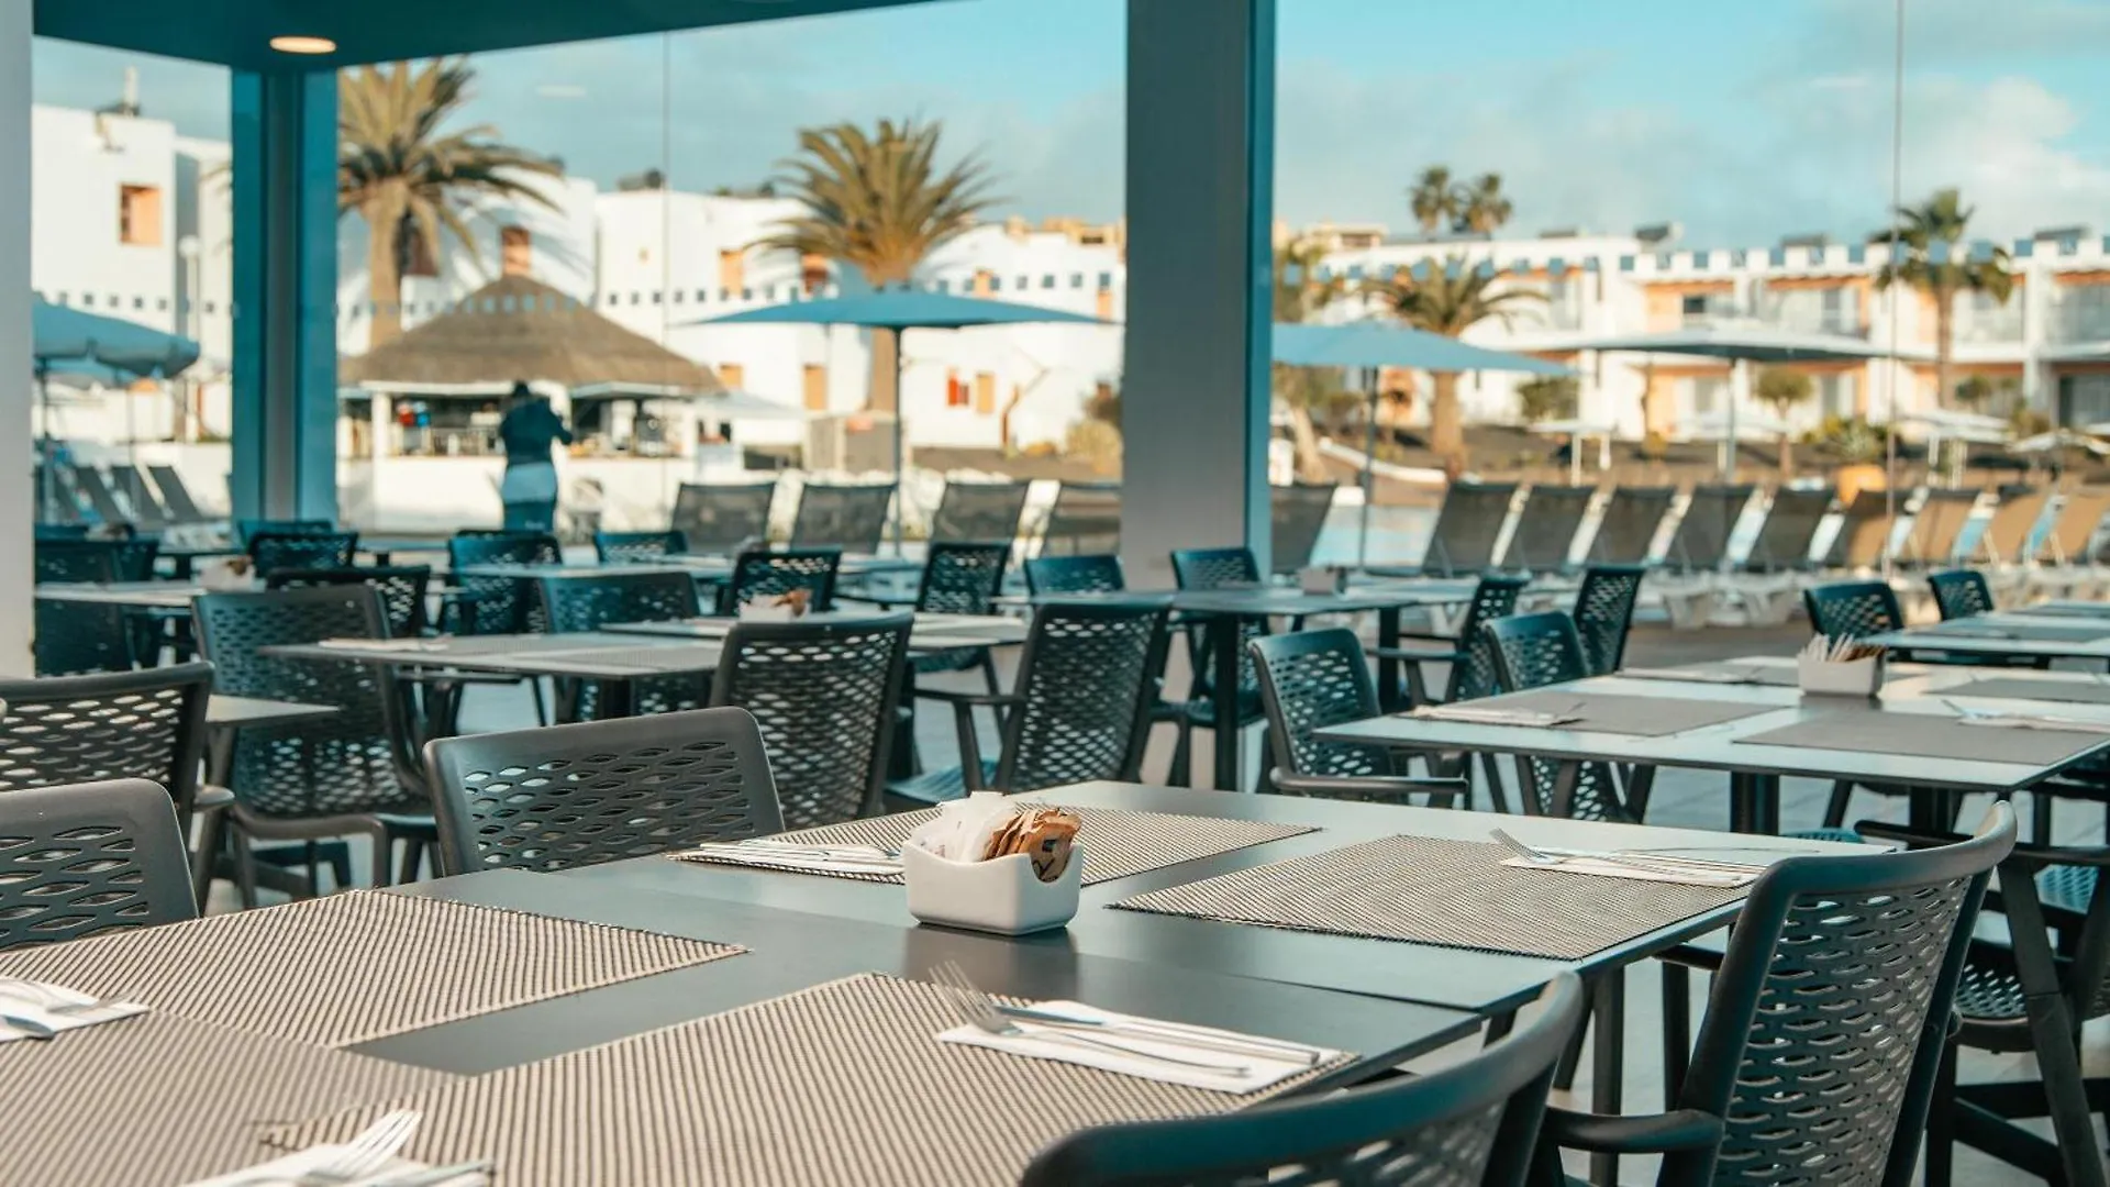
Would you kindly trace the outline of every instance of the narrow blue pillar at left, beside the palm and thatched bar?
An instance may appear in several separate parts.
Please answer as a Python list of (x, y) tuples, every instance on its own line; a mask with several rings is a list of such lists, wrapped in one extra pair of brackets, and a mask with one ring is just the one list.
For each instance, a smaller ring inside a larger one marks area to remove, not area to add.
[(338, 76), (234, 72), (236, 515), (338, 513)]

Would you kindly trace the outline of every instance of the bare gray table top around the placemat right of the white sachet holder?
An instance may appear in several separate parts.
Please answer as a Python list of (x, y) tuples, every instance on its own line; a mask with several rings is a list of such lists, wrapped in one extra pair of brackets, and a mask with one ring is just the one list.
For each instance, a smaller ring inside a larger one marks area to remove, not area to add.
[[(1823, 843), (1781, 843), (1751, 839), (1749, 849), (1724, 832), (1591, 824), (1547, 817), (1490, 817), (1471, 811), (1439, 811), (1388, 805), (1319, 800), (1304, 796), (1251, 796), (1192, 788), (1139, 784), (1078, 784), (1034, 792), (1034, 798), (1074, 807), (1116, 807), (1228, 819), (1312, 824), (1317, 832), (1249, 845), (1198, 862), (1186, 862), (1082, 889), (1082, 906), (1068, 929), (1013, 940), (1021, 950), (1118, 957), (1150, 965), (1186, 967), (1209, 974), (1266, 978), (1372, 997), (1422, 1001), (1477, 1014), (1528, 1001), (1547, 978), (1561, 969), (1599, 969), (1646, 959), (1652, 953), (1711, 931), (1734, 917), (1737, 906), (1703, 912), (1675, 927), (1663, 927), (1625, 944), (1614, 944), (1582, 961), (1555, 961), (1504, 953), (1359, 940), (1277, 927), (1247, 927), (1179, 915), (1112, 910), (1108, 904), (1198, 879), (1247, 870), (1310, 853), (1340, 849), (1378, 836), (1420, 834), (1488, 841), (1500, 824), (1528, 843), (1589, 849), (1690, 845), (1747, 851), (1762, 862), (1796, 851), (1853, 853), (1865, 847)], [(711, 900), (698, 917), (711, 919), (720, 904), (738, 902), (825, 915), (869, 925), (907, 925), (912, 917), (899, 885), (857, 883), (738, 866), (703, 866), (667, 858), (639, 858), (589, 866), (557, 881), (620, 885), (688, 900)]]

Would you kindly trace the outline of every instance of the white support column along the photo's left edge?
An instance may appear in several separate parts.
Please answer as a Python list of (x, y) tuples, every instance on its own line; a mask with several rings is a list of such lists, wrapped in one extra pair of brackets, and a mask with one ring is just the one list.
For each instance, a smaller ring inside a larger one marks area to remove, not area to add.
[(30, 11), (0, 4), (0, 676), (30, 676), (36, 488), (30, 429)]

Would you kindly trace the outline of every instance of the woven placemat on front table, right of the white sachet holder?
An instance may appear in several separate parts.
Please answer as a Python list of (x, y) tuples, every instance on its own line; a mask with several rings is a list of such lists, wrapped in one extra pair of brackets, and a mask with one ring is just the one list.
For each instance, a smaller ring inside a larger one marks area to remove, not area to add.
[(1123, 910), (1574, 961), (1741, 900), (1694, 887), (1504, 866), (1483, 841), (1382, 836), (1125, 898)]

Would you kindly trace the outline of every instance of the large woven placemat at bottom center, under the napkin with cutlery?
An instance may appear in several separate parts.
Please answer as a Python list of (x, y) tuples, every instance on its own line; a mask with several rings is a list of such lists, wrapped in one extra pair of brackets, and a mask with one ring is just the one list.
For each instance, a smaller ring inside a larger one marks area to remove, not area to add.
[[(1017, 1183), (1040, 1147), (1072, 1130), (1228, 1113), (1336, 1067), (1232, 1096), (939, 1043), (956, 1024), (937, 986), (833, 980), (401, 1100), (424, 1113), (405, 1155), (490, 1157), (506, 1187)], [(338, 1141), (380, 1111), (272, 1141)]]

